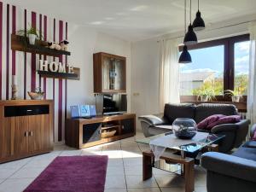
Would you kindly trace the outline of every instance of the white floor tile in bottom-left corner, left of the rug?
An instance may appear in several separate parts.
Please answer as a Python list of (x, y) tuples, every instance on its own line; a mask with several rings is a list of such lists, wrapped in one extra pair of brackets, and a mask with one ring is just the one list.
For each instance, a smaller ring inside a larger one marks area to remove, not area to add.
[(0, 192), (22, 192), (33, 178), (7, 179), (0, 184)]

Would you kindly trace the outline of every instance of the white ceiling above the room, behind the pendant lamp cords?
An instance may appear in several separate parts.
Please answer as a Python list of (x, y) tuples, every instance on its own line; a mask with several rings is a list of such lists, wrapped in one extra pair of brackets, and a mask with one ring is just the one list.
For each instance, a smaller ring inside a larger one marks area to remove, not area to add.
[[(183, 30), (183, 0), (8, 0), (42, 14), (129, 41)], [(189, 0), (187, 0), (189, 5)], [(207, 25), (256, 14), (255, 0), (201, 0)], [(192, 0), (192, 20), (197, 0)], [(189, 14), (188, 14), (189, 15)], [(189, 19), (189, 18), (188, 18)]]

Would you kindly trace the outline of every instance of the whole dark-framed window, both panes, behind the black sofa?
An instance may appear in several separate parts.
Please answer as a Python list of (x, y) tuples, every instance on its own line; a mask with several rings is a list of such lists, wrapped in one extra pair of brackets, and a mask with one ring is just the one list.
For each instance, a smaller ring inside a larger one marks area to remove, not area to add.
[(203, 91), (213, 91), (215, 96), (223, 95), (224, 90), (247, 95), (248, 34), (190, 45), (188, 49), (193, 62), (180, 66), (180, 96), (183, 99), (189, 96), (191, 100), (191, 96), (198, 96)]

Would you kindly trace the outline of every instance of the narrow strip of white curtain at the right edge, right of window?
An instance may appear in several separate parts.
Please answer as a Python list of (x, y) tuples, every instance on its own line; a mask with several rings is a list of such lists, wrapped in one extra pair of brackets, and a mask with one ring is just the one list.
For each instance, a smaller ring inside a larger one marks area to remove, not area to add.
[(247, 93), (247, 119), (251, 125), (256, 123), (256, 22), (249, 27), (250, 53), (249, 53), (249, 83)]

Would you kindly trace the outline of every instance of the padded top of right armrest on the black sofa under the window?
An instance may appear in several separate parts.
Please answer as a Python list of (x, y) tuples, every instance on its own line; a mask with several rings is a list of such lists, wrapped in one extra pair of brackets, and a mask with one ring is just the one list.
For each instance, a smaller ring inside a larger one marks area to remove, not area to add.
[(237, 131), (238, 129), (243, 129), (243, 128), (247, 130), (249, 124), (250, 124), (250, 121), (248, 119), (241, 119), (241, 121), (237, 122), (236, 124), (216, 125), (212, 128), (212, 133)]

